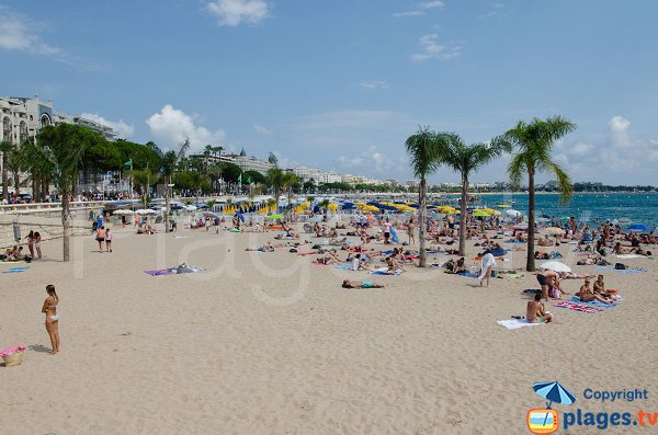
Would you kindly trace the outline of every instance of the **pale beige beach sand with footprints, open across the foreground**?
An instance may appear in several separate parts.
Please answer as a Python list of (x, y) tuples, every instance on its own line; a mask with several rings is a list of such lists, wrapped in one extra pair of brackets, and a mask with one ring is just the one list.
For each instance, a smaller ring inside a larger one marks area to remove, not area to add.
[[(77, 237), (61, 263), (55, 240), (29, 271), (0, 274), (0, 347), (30, 346), (22, 365), (0, 366), (4, 433), (523, 434), (527, 410), (544, 405), (532, 390), (541, 380), (579, 398), (559, 411), (658, 412), (654, 260), (624, 259), (647, 273), (603, 271), (626, 297), (619, 307), (548, 307), (554, 324), (508, 331), (496, 321), (524, 314), (521, 290), (537, 288), (527, 273), (479, 288), (409, 267), (375, 276), (384, 289), (342, 289), (373, 276), (285, 249), (245, 252), (272, 233), (114, 232), (113, 253)], [(560, 247), (567, 264), (571, 248)], [(504, 264), (522, 266), (524, 254)], [(183, 262), (207, 271), (143, 273)], [(55, 356), (39, 312), (46, 284), (60, 296)], [(602, 404), (581, 399), (586, 388), (646, 388), (649, 399)]]

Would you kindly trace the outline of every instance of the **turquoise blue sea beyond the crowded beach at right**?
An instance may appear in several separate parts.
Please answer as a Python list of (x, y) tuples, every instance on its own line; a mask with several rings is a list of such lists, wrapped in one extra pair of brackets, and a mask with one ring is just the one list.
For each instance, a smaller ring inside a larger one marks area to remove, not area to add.
[[(511, 208), (527, 214), (527, 194), (483, 195), (481, 205), (497, 208), (497, 204), (510, 204)], [(658, 227), (658, 193), (587, 193), (575, 194), (561, 204), (559, 194), (541, 193), (535, 195), (537, 217), (558, 219), (574, 216), (577, 220), (602, 224), (606, 219), (629, 219), (633, 224)]]

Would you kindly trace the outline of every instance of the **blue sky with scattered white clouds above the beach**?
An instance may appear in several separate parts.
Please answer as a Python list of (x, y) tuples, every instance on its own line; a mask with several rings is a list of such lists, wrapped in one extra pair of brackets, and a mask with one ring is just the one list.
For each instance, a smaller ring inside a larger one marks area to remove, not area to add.
[(0, 16), (1, 95), (163, 149), (190, 137), (407, 180), (418, 125), (475, 142), (561, 114), (578, 129), (554, 157), (574, 180), (658, 184), (653, 0), (23, 0)]

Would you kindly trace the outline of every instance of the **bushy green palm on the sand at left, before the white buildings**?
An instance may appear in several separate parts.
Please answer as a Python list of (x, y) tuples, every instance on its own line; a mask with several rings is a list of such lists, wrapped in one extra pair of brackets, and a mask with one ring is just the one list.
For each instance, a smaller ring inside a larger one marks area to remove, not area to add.
[(64, 227), (63, 250), (64, 261), (70, 260), (70, 199), (78, 180), (84, 151), (97, 140), (95, 133), (86, 128), (59, 124), (56, 127), (43, 128), (34, 144), (27, 142), (24, 156), (38, 161), (38, 170), (47, 171), (61, 195), (61, 225)]

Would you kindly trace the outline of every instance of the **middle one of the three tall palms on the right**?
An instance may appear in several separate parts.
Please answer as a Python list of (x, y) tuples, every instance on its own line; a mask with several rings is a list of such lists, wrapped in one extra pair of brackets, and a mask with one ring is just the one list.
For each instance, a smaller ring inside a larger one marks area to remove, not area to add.
[(441, 148), (441, 163), (462, 175), (462, 215), (460, 217), (460, 255), (466, 254), (466, 226), (468, 205), (468, 184), (472, 172), (477, 171), (503, 152), (511, 152), (512, 146), (507, 140), (495, 138), (490, 144), (474, 144), (467, 146), (454, 133), (436, 135)]

